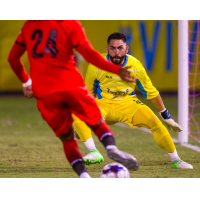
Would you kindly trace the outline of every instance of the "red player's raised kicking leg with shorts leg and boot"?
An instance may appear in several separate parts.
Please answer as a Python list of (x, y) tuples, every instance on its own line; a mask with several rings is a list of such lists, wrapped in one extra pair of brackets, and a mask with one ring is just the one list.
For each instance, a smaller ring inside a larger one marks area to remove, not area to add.
[(73, 90), (73, 99), (71, 102), (79, 102), (79, 104), (70, 103), (71, 112), (75, 114), (82, 121), (94, 131), (101, 143), (107, 150), (108, 156), (125, 165), (130, 170), (138, 169), (137, 160), (130, 154), (122, 152), (117, 149), (115, 145), (114, 135), (108, 125), (101, 117), (101, 112), (95, 102), (94, 97), (85, 88)]

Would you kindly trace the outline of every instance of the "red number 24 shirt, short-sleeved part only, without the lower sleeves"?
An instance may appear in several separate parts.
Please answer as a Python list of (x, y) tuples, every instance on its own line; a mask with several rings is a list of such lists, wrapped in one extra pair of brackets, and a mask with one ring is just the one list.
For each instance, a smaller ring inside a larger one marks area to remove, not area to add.
[(83, 84), (77, 73), (73, 48), (85, 42), (77, 21), (27, 21), (16, 43), (25, 45), (36, 97)]

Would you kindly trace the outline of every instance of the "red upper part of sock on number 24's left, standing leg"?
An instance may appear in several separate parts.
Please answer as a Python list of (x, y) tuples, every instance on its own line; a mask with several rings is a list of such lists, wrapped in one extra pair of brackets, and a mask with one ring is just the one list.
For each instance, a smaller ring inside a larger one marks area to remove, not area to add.
[(83, 157), (81, 155), (81, 152), (78, 148), (77, 140), (69, 140), (63, 143), (63, 148), (65, 155), (67, 157), (67, 160), (70, 162), (71, 165), (73, 165), (74, 161), (82, 161)]

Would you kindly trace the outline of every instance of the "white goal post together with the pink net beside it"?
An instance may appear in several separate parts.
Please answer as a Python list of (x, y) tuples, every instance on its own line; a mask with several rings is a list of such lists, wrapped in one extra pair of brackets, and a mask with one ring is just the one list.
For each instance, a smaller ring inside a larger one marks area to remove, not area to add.
[(178, 122), (188, 136), (200, 142), (200, 21), (178, 21)]

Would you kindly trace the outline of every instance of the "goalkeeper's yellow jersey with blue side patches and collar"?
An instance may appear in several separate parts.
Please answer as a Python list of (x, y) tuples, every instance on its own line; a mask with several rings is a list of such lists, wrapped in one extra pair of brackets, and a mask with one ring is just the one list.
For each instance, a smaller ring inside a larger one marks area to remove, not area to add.
[[(109, 61), (108, 54), (102, 54)], [(128, 100), (136, 96), (136, 85), (146, 99), (153, 99), (159, 92), (153, 86), (141, 62), (131, 55), (126, 54), (126, 59), (121, 67), (131, 66), (131, 75), (137, 77), (137, 83), (125, 82), (118, 75), (101, 70), (89, 64), (85, 84), (88, 90), (102, 101), (120, 103), (121, 100)]]

